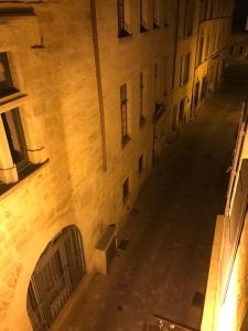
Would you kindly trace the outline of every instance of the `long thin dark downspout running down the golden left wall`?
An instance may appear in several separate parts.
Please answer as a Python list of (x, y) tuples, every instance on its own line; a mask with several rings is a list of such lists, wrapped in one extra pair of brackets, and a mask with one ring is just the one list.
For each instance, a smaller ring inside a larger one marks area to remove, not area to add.
[(99, 115), (100, 115), (103, 169), (104, 169), (104, 171), (106, 171), (107, 170), (107, 150), (106, 150), (106, 129), (105, 129), (105, 111), (104, 111), (105, 109), (104, 109), (99, 43), (98, 43), (98, 32), (97, 32), (96, 1), (95, 0), (90, 0), (90, 10), (91, 10), (91, 31), (93, 31), (95, 65), (96, 65), (98, 104), (99, 104)]

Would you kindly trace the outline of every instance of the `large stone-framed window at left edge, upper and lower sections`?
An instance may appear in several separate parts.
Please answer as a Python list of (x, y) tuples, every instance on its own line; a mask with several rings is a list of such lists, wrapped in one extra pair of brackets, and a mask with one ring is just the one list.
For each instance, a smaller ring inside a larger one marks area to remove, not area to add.
[(39, 139), (35, 145), (32, 141), (32, 149), (28, 148), (29, 125), (22, 122), (28, 97), (14, 85), (8, 54), (0, 53), (0, 194), (46, 160)]

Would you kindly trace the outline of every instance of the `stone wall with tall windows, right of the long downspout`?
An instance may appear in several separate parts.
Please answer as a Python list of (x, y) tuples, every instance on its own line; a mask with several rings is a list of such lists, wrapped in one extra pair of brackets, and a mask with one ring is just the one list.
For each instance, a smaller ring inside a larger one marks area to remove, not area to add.
[[(130, 36), (118, 38), (117, 2), (97, 3), (99, 58), (103, 77), (106, 116), (106, 145), (111, 204), (119, 218), (130, 210), (145, 173), (151, 169), (153, 145), (153, 115), (155, 102), (165, 104), (165, 113), (159, 121), (159, 143), (162, 149), (170, 130), (171, 81), (173, 75), (175, 3), (161, 7), (160, 28), (152, 26), (151, 2), (148, 6), (147, 29), (140, 33), (138, 1), (129, 3)], [(161, 2), (162, 3), (162, 2)], [(168, 25), (165, 25), (165, 18)], [(170, 46), (168, 46), (170, 45)], [(157, 67), (157, 77), (155, 77)], [(143, 73), (143, 117), (140, 126), (140, 73)], [(129, 142), (121, 143), (120, 86), (127, 84), (127, 116)], [(138, 160), (144, 158), (144, 175), (139, 178)], [(121, 167), (116, 167), (121, 162)], [(122, 183), (129, 178), (130, 197), (122, 203)], [(118, 220), (117, 217), (117, 220)], [(114, 220), (115, 221), (115, 220)]]

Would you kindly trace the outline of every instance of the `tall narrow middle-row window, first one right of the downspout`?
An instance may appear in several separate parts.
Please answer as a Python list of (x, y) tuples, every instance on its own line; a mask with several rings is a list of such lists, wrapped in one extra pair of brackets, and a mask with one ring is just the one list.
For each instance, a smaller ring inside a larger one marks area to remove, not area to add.
[(120, 115), (122, 147), (130, 140), (128, 136), (127, 84), (120, 86)]

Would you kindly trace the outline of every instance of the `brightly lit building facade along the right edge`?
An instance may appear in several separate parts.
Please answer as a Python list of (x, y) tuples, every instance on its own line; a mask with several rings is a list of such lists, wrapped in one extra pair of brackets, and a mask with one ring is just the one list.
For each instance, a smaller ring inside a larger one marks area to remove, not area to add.
[(248, 104), (244, 102), (225, 215), (216, 220), (202, 330), (248, 328)]

